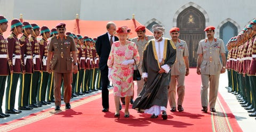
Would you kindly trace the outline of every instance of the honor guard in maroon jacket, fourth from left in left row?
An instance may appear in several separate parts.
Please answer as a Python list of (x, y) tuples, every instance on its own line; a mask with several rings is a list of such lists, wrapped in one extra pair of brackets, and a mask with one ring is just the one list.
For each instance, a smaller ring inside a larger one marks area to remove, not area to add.
[(32, 23), (31, 26), (33, 27), (33, 30), (29, 42), (32, 45), (33, 51), (34, 73), (32, 75), (32, 87), (29, 94), (29, 106), (32, 108), (38, 108), (39, 106), (42, 106), (41, 104), (36, 103), (37, 88), (39, 87), (38, 80), (40, 72), (42, 72), (43, 65), (40, 56), (39, 43), (37, 42), (37, 37), (40, 35), (40, 27), (36, 23)]

